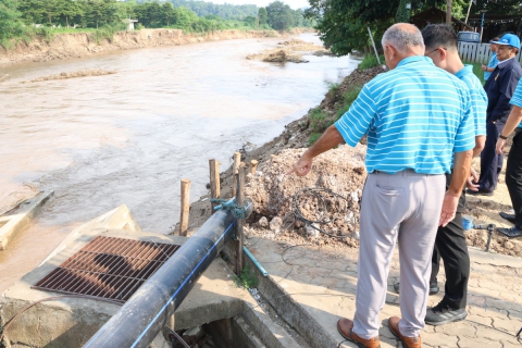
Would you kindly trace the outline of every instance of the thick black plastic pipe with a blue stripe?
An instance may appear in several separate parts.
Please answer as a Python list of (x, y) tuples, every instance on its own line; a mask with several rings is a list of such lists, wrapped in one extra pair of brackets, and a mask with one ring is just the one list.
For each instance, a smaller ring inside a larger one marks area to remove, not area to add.
[(235, 222), (233, 212), (215, 212), (84, 347), (148, 347), (232, 238)]

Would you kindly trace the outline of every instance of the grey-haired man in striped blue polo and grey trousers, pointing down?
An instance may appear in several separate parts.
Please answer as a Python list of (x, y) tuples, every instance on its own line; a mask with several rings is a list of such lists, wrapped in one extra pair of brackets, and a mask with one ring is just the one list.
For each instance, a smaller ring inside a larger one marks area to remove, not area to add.
[[(360, 212), (360, 249), (353, 321), (337, 330), (363, 347), (380, 347), (378, 313), (396, 241), (400, 309), (388, 327), (406, 347), (421, 347), (437, 225), (455, 216), (475, 146), (468, 88), (424, 58), (419, 29), (399, 23), (382, 40), (390, 72), (362, 88), (350, 110), (327, 128), (288, 172), (306, 175), (314, 157), (368, 134), (368, 178)], [(449, 189), (445, 174), (453, 176)]]

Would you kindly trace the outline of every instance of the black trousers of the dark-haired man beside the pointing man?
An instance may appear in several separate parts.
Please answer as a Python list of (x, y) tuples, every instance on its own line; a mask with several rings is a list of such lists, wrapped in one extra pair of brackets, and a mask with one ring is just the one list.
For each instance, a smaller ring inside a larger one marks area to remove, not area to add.
[[(446, 175), (446, 189), (449, 187), (450, 182), (451, 175)], [(470, 254), (468, 253), (464, 227), (462, 225), (464, 204), (465, 194), (462, 191), (455, 219), (446, 227), (438, 227), (432, 257), (430, 284), (437, 282), (442, 258), (444, 270), (446, 271), (443, 303), (452, 309), (465, 308), (468, 281), (470, 278)]]

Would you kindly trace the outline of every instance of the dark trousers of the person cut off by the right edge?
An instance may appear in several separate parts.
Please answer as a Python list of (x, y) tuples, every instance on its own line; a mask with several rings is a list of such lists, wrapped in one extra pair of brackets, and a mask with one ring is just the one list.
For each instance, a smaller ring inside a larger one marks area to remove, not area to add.
[(506, 166), (506, 186), (508, 186), (511, 204), (513, 204), (514, 225), (522, 228), (522, 132), (513, 137), (513, 145)]

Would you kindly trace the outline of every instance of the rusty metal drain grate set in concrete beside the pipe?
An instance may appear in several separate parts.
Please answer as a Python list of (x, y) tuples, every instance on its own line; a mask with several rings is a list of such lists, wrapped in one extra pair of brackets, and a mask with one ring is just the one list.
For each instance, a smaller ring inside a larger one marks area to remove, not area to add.
[(125, 302), (179, 246), (98, 236), (33, 288)]

